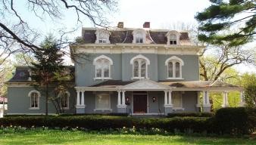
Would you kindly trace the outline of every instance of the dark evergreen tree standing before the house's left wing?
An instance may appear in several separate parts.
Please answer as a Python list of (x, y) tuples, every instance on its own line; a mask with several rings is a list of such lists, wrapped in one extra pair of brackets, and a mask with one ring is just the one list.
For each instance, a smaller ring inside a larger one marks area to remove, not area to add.
[(35, 54), (37, 63), (32, 63), (33, 66), (31, 66), (31, 78), (34, 81), (33, 86), (45, 93), (45, 115), (47, 116), (48, 100), (56, 98), (50, 96), (51, 89), (55, 91), (54, 96), (57, 96), (56, 94), (64, 91), (64, 82), (70, 79), (70, 76), (63, 66), (61, 48), (51, 35), (45, 38), (40, 47), (41, 49)]

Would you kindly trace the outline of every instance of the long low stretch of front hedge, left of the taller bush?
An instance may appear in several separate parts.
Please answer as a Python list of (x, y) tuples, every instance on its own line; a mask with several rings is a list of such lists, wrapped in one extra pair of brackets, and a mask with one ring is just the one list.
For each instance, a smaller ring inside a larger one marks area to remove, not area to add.
[(22, 126), (30, 128), (86, 128), (102, 130), (110, 128), (161, 128), (165, 131), (205, 132), (210, 118), (176, 117), (172, 119), (139, 119), (122, 116), (15, 116), (0, 119), (2, 126)]

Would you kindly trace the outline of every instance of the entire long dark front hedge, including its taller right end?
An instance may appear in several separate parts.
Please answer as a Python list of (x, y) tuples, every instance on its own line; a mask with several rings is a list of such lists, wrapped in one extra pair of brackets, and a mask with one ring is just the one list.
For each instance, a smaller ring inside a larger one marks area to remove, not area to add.
[(256, 109), (222, 108), (213, 117), (172, 117), (164, 119), (133, 118), (126, 116), (9, 116), (0, 119), (2, 126), (22, 126), (30, 128), (86, 128), (104, 130), (111, 128), (159, 128), (164, 131), (250, 134), (256, 131)]

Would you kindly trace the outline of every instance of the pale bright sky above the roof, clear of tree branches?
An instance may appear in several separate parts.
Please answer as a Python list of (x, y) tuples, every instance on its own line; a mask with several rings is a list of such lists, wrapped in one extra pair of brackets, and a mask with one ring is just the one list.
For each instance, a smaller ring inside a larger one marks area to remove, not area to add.
[[(25, 4), (26, 5), (26, 4)], [(123, 22), (124, 27), (142, 28), (145, 21), (150, 22), (152, 29), (168, 29), (170, 26), (179, 23), (196, 24), (195, 14), (203, 11), (211, 3), (208, 0), (119, 0), (117, 11), (106, 14), (110, 26), (117, 26)], [(50, 20), (44, 17), (43, 21), (38, 17), (31, 16), (30, 12), (24, 11), (22, 1), (15, 5), (23, 13), (23, 17), (30, 21), (30, 25), (47, 35), (55, 33), (57, 29), (67, 31), (76, 28), (77, 30), (69, 35), (70, 39), (81, 35), (82, 26), (92, 27), (89, 20), (83, 19), (83, 23), (77, 23), (74, 11), (64, 11), (61, 20)], [(239, 72), (256, 72), (253, 66), (236, 66)]]

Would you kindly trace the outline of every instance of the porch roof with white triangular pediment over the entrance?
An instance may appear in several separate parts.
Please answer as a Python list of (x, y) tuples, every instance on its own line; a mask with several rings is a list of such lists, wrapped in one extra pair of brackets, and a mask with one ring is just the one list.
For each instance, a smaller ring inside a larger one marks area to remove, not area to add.
[(83, 91), (242, 91), (243, 88), (220, 81), (154, 82), (148, 79), (138, 81), (107, 80), (89, 87), (76, 87)]

